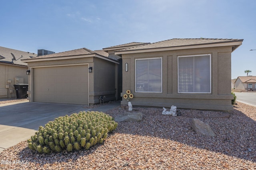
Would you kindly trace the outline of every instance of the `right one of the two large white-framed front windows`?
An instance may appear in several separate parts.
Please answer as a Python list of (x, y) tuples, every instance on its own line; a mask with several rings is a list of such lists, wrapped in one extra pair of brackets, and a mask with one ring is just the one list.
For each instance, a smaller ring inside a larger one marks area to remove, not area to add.
[(178, 57), (178, 92), (211, 93), (211, 55)]

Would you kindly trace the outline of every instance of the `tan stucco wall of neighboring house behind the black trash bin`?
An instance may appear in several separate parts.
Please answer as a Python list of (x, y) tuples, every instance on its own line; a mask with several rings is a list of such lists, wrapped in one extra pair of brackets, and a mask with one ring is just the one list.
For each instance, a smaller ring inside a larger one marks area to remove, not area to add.
[[(12, 64), (2, 64), (0, 63), (0, 98), (9, 98), (10, 94), (6, 85), (9, 85), (7, 80), (11, 80), (9, 90), (12, 91), (11, 97), (16, 98), (16, 90), (14, 84), (25, 83), (28, 84), (28, 75), (26, 75), (27, 66), (17, 66)], [(19, 78), (19, 81), (15, 81), (15, 78)]]

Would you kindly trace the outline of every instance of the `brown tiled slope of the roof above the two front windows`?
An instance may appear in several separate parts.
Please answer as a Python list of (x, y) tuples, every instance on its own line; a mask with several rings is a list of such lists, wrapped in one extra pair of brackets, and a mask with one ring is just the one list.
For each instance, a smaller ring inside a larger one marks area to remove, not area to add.
[(122, 49), (120, 51), (133, 51), (142, 49), (157, 49), (157, 48), (168, 48), (168, 47), (183, 47), (191, 45), (206, 45), (214, 43), (228, 43), (228, 42), (238, 42), (243, 41), (243, 39), (210, 39), (210, 38), (188, 38), (188, 39), (169, 39), (165, 41), (159, 41), (156, 43), (150, 43), (142, 45), (139, 47), (133, 47), (129, 49)]

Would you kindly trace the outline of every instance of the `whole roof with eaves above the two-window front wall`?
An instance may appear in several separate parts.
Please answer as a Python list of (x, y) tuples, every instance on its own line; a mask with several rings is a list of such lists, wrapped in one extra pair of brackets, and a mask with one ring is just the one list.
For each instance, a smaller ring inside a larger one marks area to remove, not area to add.
[(242, 45), (243, 39), (208, 39), (208, 38), (190, 38), (190, 39), (169, 39), (156, 43), (141, 45), (129, 49), (116, 51), (115, 54), (142, 53), (150, 51), (166, 51), (175, 49), (189, 49), (202, 47), (232, 46), (232, 51)]

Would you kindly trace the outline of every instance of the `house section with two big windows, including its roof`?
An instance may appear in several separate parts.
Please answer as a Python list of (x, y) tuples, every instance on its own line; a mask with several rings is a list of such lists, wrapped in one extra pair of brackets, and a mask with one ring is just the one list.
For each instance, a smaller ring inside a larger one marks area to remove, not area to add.
[[(133, 106), (233, 109), (231, 53), (243, 39), (169, 39), (115, 51)], [(122, 98), (122, 105), (128, 101)]]

